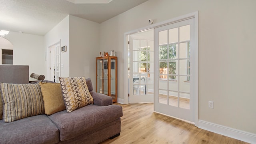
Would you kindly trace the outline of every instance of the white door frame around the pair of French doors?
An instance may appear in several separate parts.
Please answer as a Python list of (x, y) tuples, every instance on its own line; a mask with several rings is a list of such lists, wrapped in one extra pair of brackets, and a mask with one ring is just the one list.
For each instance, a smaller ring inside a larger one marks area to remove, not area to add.
[[(198, 11), (196, 12), (192, 12), (189, 14), (185, 14), (182, 16), (178, 16), (176, 18), (172, 18), (170, 20), (166, 20), (163, 22), (158, 22), (156, 24), (151, 24), (149, 26), (145, 26), (143, 28), (139, 28), (136, 30), (132, 30), (129, 32), (125, 32), (124, 33), (124, 104), (128, 104), (129, 103), (129, 98), (128, 98), (128, 36), (129, 34), (133, 34), (136, 32), (141, 32), (144, 30), (148, 30), (151, 28), (157, 28), (160, 26), (165, 26), (167, 24), (172, 24), (172, 23), (176, 23), (176, 22), (180, 22), (183, 20), (187, 20), (190, 18), (194, 18), (194, 30), (195, 30), (195, 54), (197, 54), (196, 58), (195, 58), (195, 68), (194, 70), (197, 71), (198, 74)], [(193, 94), (195, 95), (194, 98), (194, 102), (193, 102), (193, 106), (194, 106), (194, 122), (195, 122), (195, 126), (198, 126), (198, 75), (195, 76), (195, 89), (192, 91)]]

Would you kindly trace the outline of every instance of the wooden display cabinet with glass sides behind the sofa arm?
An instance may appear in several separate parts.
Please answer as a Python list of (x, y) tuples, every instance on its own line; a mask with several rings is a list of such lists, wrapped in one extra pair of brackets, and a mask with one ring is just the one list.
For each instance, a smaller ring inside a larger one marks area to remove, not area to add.
[(112, 97), (117, 102), (117, 57), (96, 58), (96, 92)]

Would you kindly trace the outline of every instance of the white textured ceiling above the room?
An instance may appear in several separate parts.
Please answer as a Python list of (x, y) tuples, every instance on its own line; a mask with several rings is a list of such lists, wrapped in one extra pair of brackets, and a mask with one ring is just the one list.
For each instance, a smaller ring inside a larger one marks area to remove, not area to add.
[(0, 30), (45, 35), (68, 14), (102, 23), (147, 0), (108, 1), (75, 4), (76, 0), (0, 0)]

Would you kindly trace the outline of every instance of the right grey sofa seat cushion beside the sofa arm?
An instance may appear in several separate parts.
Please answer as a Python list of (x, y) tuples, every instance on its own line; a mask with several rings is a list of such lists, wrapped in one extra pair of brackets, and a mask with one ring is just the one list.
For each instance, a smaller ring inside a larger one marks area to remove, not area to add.
[(71, 113), (64, 111), (48, 116), (60, 130), (60, 140), (68, 140), (108, 124), (123, 115), (122, 106), (90, 104)]

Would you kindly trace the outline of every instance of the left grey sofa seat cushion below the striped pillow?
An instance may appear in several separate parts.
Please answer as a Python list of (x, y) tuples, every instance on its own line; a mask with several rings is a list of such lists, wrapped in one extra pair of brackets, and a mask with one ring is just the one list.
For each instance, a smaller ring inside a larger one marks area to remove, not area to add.
[(31, 116), (15, 122), (0, 120), (1, 144), (56, 144), (58, 128), (46, 115)]

